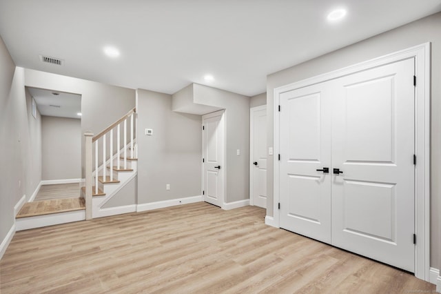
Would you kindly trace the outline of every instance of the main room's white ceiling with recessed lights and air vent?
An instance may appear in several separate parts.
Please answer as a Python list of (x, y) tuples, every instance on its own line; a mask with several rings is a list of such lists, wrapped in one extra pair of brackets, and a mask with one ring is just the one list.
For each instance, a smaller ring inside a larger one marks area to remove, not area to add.
[[(347, 17), (329, 23), (338, 7)], [(195, 82), (252, 96), (272, 72), (439, 11), (441, 0), (0, 0), (0, 35), (25, 68), (168, 94)], [(121, 56), (105, 57), (106, 45)]]

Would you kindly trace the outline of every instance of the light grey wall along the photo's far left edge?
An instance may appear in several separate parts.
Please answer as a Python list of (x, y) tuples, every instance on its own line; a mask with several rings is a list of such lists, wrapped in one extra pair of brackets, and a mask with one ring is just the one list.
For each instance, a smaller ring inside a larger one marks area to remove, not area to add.
[[(41, 117), (31, 115), (23, 68), (16, 68), (0, 38), (0, 244), (14, 224), (14, 206), (41, 181)], [(5, 244), (5, 243), (3, 243)], [(3, 248), (0, 248), (0, 251)]]

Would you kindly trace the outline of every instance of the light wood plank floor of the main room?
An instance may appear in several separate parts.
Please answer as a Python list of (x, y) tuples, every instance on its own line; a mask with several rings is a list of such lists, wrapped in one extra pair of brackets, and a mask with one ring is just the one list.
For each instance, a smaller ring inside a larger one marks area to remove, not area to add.
[(205, 203), (20, 231), (6, 293), (410, 293), (409, 273)]

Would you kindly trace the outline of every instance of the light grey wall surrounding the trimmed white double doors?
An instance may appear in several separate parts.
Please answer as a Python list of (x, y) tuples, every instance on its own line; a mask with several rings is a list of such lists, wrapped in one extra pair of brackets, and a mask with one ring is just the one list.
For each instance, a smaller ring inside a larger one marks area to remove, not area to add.
[[(431, 42), (431, 266), (441, 266), (441, 12), (267, 77), (268, 146), (273, 142), (274, 88), (391, 52)], [(267, 215), (273, 212), (273, 160), (268, 157)]]

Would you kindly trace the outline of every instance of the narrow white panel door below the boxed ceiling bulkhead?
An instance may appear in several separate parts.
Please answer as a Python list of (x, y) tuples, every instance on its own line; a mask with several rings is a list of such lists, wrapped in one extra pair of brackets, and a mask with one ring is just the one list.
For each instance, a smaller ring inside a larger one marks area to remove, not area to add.
[(203, 115), (203, 197), (222, 207), (224, 202), (224, 123), (223, 110)]

